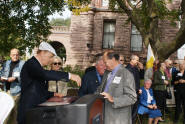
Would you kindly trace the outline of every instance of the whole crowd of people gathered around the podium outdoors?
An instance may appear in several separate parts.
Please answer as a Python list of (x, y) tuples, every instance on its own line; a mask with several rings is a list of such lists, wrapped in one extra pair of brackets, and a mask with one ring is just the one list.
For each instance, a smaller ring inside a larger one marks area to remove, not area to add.
[[(104, 96), (105, 124), (135, 124), (138, 114), (148, 114), (148, 124), (164, 121), (163, 115), (168, 112), (167, 87), (174, 86), (174, 123), (178, 123), (185, 103), (185, 61), (155, 60), (153, 67), (146, 69), (137, 55), (131, 55), (126, 64), (123, 55), (106, 51), (95, 56), (94, 65), (85, 70), (81, 80), (78, 75), (62, 70), (62, 60), (46, 42), (42, 42), (37, 55), (26, 62), (20, 60), (19, 54), (18, 49), (11, 49), (11, 59), (0, 71), (3, 90), (19, 102), (18, 107), (14, 107), (13, 114), (17, 116), (14, 124), (25, 124), (25, 114), (29, 109), (53, 96), (63, 97), (59, 84), (68, 80), (78, 84), (80, 97), (87, 94)], [(44, 69), (48, 65), (50, 69)]]

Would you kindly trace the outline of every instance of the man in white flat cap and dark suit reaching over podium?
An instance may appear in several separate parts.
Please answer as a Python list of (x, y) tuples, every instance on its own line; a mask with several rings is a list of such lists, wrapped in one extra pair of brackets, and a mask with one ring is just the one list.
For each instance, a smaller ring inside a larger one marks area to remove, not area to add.
[(49, 65), (56, 55), (54, 48), (42, 42), (36, 56), (29, 59), (21, 71), (21, 97), (18, 108), (18, 124), (25, 124), (25, 115), (29, 109), (45, 102), (50, 97), (62, 94), (49, 92), (46, 88), (46, 82), (49, 80), (74, 80), (81, 85), (81, 79), (78, 75), (67, 72), (44, 70), (43, 66)]

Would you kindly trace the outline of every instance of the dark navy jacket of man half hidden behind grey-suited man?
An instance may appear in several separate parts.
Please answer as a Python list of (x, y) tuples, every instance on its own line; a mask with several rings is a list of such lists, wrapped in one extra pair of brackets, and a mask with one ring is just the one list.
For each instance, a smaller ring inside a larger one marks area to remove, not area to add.
[(79, 89), (78, 95), (93, 94), (101, 82), (98, 81), (96, 69), (87, 72), (82, 78), (82, 86)]

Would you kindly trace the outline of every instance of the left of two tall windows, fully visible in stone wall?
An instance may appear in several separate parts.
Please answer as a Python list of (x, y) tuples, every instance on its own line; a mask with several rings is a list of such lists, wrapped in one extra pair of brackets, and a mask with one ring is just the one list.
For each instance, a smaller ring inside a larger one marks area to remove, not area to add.
[(104, 21), (103, 26), (103, 48), (112, 49), (114, 48), (115, 42), (115, 20)]

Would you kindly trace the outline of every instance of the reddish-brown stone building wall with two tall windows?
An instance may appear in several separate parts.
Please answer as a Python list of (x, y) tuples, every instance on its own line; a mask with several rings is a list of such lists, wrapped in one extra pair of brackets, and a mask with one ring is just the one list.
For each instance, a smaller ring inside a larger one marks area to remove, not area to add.
[[(177, 1), (169, 7), (176, 7)], [(131, 54), (138, 55), (143, 62), (146, 61), (147, 50), (134, 26), (131, 23), (126, 24), (127, 15), (112, 12), (107, 5), (107, 0), (92, 0), (90, 11), (72, 15), (70, 29), (64, 33), (65, 37), (68, 37), (66, 41), (60, 40), (59, 36), (52, 39), (52, 35), (58, 35), (55, 33), (50, 36), (50, 40), (61, 42), (66, 48), (66, 65), (80, 65), (86, 68), (91, 65), (95, 54), (107, 49), (123, 54), (126, 62)], [(168, 21), (161, 22), (164, 42), (174, 38), (177, 31), (178, 26), (172, 27)]]

